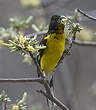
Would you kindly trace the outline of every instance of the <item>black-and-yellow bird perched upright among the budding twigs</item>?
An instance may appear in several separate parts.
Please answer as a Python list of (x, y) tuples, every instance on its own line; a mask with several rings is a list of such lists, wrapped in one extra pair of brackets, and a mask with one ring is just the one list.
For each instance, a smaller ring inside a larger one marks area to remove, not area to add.
[[(51, 76), (49, 81), (50, 88), (53, 87), (53, 71), (60, 64), (65, 52), (64, 27), (66, 21), (67, 18), (65, 16), (53, 15), (49, 23), (48, 32), (43, 36), (40, 42), (40, 45), (46, 46), (46, 48), (39, 50), (37, 61), (44, 76)], [(48, 106), (53, 105), (53, 103), (49, 103), (50, 101), (47, 99)]]

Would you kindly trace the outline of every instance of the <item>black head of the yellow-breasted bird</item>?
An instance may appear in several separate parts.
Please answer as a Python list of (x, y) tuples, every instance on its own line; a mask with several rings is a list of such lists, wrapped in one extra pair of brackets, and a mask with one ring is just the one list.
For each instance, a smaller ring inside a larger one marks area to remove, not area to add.
[(63, 33), (66, 17), (53, 15), (49, 24), (49, 33)]

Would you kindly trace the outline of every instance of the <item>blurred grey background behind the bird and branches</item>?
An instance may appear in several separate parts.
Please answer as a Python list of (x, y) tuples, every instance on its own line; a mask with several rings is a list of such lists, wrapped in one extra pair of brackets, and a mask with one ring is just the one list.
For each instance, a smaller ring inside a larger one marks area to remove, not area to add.
[[(7, 28), (10, 17), (24, 18), (30, 15), (33, 16), (34, 24), (46, 26), (53, 14), (70, 16), (74, 14), (75, 8), (96, 16), (96, 0), (0, 0), (0, 27)], [(88, 19), (84, 19), (82, 24), (92, 30), (96, 29), (96, 23)], [(30, 28), (26, 34), (32, 32), (34, 30)], [(86, 34), (83, 37), (86, 38)], [(23, 63), (22, 59), (18, 53), (11, 53), (9, 49), (1, 48), (0, 78), (35, 77), (35, 65)], [(73, 45), (72, 55), (64, 59), (55, 73), (55, 95), (60, 101), (70, 110), (96, 110), (95, 46)], [(0, 84), (0, 91), (5, 90), (12, 103), (21, 97), (23, 92), (27, 92), (28, 110), (49, 110), (45, 97), (36, 92), (41, 88), (37, 83)]]

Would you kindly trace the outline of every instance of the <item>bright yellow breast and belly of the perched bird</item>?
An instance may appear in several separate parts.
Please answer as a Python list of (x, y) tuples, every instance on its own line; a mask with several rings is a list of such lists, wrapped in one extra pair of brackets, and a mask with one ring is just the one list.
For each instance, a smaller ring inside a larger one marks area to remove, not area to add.
[(46, 75), (52, 73), (57, 66), (65, 49), (64, 34), (51, 34), (47, 36), (47, 46), (40, 60), (41, 69)]

